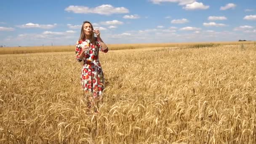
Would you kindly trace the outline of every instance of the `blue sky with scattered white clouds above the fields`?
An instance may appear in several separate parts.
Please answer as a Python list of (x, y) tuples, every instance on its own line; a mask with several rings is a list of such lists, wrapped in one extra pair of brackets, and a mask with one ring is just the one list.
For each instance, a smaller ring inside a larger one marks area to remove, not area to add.
[(0, 45), (74, 45), (87, 20), (105, 43), (256, 40), (256, 0), (1, 0)]

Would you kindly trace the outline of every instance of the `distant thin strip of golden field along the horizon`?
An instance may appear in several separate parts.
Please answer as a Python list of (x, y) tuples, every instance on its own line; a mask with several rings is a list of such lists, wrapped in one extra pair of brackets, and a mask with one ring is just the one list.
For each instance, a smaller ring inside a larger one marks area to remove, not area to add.
[[(155, 47), (200, 47), (211, 45), (241, 45), (253, 44), (253, 41), (247, 42), (211, 42), (211, 43), (141, 43), (141, 44), (108, 44), (110, 50), (137, 49), (137, 48), (155, 48)], [(75, 45), (67, 46), (36, 46), (36, 47), (12, 47), (0, 48), (0, 54), (17, 53), (45, 53), (74, 51)]]

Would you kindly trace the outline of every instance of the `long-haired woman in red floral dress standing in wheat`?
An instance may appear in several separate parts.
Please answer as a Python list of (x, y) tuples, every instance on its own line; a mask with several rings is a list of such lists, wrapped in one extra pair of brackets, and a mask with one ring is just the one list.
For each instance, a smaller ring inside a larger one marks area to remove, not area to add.
[(100, 31), (93, 29), (89, 21), (84, 21), (75, 53), (77, 61), (83, 62), (81, 83), (88, 98), (88, 108), (94, 108), (95, 112), (99, 112), (97, 105), (104, 90), (104, 74), (99, 62), (99, 51), (107, 53), (108, 47), (101, 39)]

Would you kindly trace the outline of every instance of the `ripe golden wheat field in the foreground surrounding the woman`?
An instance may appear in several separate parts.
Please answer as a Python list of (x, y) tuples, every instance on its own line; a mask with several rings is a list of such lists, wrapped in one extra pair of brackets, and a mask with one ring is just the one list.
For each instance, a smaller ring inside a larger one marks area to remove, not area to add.
[(256, 47), (100, 53), (100, 114), (71, 52), (0, 55), (0, 143), (255, 144)]

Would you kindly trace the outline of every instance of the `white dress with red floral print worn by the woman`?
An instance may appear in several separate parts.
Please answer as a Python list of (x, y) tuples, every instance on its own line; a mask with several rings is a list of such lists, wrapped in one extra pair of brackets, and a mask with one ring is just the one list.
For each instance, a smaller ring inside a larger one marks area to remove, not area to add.
[[(90, 50), (85, 51), (83, 59), (79, 58), (82, 53), (82, 46), (89, 45)], [(99, 62), (99, 51), (107, 53), (107, 49), (102, 49), (99, 40), (95, 37), (95, 45), (90, 40), (78, 40), (76, 43), (75, 53), (77, 61), (83, 61), (83, 67), (81, 70), (81, 83), (83, 90), (87, 93), (91, 91), (93, 97), (96, 98), (101, 96), (104, 90), (104, 74)]]

